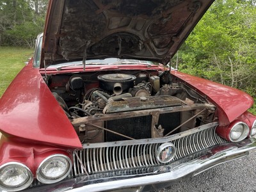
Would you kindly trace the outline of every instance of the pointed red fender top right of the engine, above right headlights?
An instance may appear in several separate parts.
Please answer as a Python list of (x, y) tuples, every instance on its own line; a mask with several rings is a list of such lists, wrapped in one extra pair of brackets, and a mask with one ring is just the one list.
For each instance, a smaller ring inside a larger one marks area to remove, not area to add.
[(173, 71), (172, 74), (202, 95), (207, 95), (207, 99), (216, 104), (220, 126), (230, 124), (253, 104), (250, 95), (235, 88), (181, 72)]

